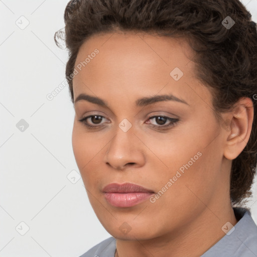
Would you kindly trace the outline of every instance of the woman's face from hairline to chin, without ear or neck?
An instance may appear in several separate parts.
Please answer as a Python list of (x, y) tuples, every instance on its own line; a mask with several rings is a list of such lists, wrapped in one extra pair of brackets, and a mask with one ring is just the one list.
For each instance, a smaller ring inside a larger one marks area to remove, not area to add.
[[(195, 78), (193, 57), (182, 39), (133, 32), (95, 35), (80, 48), (73, 151), (94, 212), (114, 237), (178, 231), (215, 215), (206, 206), (214, 212), (228, 195), (225, 130), (209, 89)], [(159, 95), (173, 96), (146, 101)], [(154, 193), (136, 205), (107, 201), (103, 188), (126, 182)]]

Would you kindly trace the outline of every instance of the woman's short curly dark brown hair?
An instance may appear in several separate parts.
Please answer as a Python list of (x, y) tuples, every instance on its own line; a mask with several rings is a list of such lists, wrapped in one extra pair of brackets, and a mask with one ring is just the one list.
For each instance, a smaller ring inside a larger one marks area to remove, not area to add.
[[(69, 59), (66, 79), (73, 99), (73, 74), (81, 45), (90, 36), (116, 31), (139, 31), (160, 36), (181, 36), (195, 51), (196, 77), (213, 93), (217, 117), (231, 110), (240, 97), (252, 99), (254, 117), (250, 138), (232, 160), (230, 199), (240, 205), (250, 197), (257, 156), (257, 33), (256, 24), (239, 0), (73, 0), (64, 12)], [(231, 28), (225, 25), (233, 23)], [(65, 36), (64, 36), (65, 35)], [(224, 123), (223, 123), (224, 124)]]

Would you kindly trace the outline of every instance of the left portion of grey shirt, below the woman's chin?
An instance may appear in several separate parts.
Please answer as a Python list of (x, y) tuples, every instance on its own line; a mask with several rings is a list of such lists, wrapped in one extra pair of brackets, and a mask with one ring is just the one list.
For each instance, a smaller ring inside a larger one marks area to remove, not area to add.
[(111, 236), (99, 242), (79, 257), (113, 257), (115, 249), (116, 240)]

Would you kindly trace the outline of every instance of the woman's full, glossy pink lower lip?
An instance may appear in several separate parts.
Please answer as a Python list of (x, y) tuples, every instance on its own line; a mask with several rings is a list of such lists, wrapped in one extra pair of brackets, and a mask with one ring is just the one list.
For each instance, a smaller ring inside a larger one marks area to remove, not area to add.
[(112, 206), (131, 207), (145, 201), (153, 194), (150, 192), (104, 193), (104, 197)]

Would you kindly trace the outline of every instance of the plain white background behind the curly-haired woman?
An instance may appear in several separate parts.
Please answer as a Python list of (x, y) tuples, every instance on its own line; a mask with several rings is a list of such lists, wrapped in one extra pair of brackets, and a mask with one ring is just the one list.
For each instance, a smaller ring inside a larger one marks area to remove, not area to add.
[[(257, 1), (242, 2), (257, 22)], [(67, 3), (0, 1), (2, 257), (78, 257), (110, 236), (73, 156), (68, 87), (47, 99), (65, 81), (68, 54), (55, 45), (54, 33), (64, 27)], [(257, 222), (255, 188), (249, 206)]]

